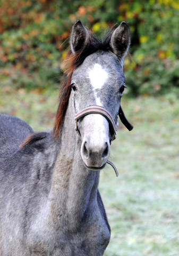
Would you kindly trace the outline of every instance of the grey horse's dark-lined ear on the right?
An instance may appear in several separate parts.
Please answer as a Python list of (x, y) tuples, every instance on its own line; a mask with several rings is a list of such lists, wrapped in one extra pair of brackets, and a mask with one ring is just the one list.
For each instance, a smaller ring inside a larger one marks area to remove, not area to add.
[(121, 22), (120, 26), (116, 28), (110, 39), (110, 47), (116, 54), (118, 59), (124, 62), (124, 58), (130, 46), (130, 28), (125, 21)]

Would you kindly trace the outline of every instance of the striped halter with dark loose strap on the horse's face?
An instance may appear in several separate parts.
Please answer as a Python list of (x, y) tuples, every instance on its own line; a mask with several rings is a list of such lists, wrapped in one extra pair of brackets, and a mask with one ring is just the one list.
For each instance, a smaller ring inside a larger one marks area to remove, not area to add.
[[(113, 117), (109, 114), (109, 112), (104, 107), (93, 105), (93, 106), (89, 106), (87, 108), (82, 109), (79, 113), (76, 113), (73, 89), (72, 89), (72, 106), (73, 106), (73, 115), (74, 115), (74, 119), (75, 119), (75, 123), (76, 123), (75, 131), (79, 135), (80, 139), (81, 139), (81, 134), (80, 134), (80, 130), (78, 127), (78, 121), (80, 118), (90, 115), (90, 114), (100, 114), (100, 115), (104, 116), (109, 123), (109, 130), (110, 130), (110, 134), (111, 134), (111, 137), (109, 140), (110, 144), (113, 140), (116, 139), (117, 128), (118, 128), (118, 118), (117, 118), (116, 122), (114, 122)], [(125, 127), (129, 131), (131, 131), (133, 129), (133, 125), (127, 120), (121, 105), (120, 105), (120, 109), (118, 111), (118, 116), (120, 117), (121, 122), (125, 125)], [(110, 164), (114, 168), (116, 176), (118, 177), (118, 172), (117, 172), (115, 165), (112, 162), (110, 162), (109, 160), (107, 160), (106, 163)]]

